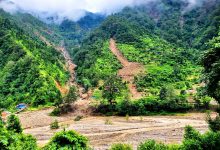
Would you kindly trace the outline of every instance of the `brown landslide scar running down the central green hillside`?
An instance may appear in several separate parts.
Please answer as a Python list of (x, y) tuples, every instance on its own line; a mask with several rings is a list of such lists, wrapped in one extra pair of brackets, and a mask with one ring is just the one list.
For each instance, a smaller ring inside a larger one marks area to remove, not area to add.
[(114, 39), (110, 40), (110, 49), (123, 66), (123, 68), (118, 71), (118, 75), (122, 77), (124, 81), (128, 82), (131, 98), (140, 99), (142, 97), (142, 93), (137, 91), (137, 87), (134, 84), (134, 77), (144, 71), (144, 66), (140, 63), (129, 62), (117, 49)]

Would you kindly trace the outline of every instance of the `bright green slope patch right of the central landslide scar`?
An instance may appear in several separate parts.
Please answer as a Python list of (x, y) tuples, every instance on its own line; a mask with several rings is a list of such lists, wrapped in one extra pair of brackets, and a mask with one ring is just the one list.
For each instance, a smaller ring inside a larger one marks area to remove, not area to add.
[(143, 38), (142, 48), (131, 44), (118, 47), (130, 61), (145, 64), (146, 72), (135, 79), (139, 91), (158, 95), (161, 87), (172, 85), (180, 92), (198, 81), (201, 69), (195, 64), (195, 49), (176, 48), (158, 37)]

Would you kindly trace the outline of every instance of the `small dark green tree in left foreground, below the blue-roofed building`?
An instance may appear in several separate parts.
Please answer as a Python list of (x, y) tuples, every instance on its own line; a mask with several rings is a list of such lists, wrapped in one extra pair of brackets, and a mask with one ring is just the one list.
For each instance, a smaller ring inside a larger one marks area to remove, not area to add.
[(10, 115), (6, 124), (7, 130), (14, 131), (16, 133), (22, 133), (21, 123), (16, 115)]

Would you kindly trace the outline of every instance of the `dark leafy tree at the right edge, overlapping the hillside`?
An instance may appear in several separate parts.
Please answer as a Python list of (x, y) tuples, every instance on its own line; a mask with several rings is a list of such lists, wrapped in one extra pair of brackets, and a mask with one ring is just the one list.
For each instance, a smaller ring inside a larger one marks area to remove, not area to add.
[[(217, 102), (218, 105), (220, 104), (220, 86), (219, 86), (219, 43), (220, 43), (220, 35), (213, 38), (209, 42), (210, 49), (203, 54), (201, 59), (201, 64), (204, 67), (204, 81), (206, 83), (204, 92), (209, 96), (213, 97)], [(213, 119), (211, 118), (210, 114), (207, 116), (207, 122), (209, 123), (209, 128), (214, 131), (220, 131), (220, 116), (219, 116), (219, 109), (217, 110), (218, 115)]]

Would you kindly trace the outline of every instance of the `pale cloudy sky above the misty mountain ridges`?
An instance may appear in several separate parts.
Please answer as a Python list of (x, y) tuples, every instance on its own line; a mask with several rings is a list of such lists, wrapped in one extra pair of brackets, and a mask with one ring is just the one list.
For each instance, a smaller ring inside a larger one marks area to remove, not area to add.
[[(78, 20), (86, 11), (102, 14), (112, 14), (125, 6), (147, 4), (156, 0), (0, 0), (0, 8), (8, 12), (24, 11), (38, 15), (41, 18), (57, 16), (58, 21), (63, 18)], [(201, 0), (190, 1), (190, 7)]]

